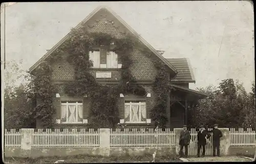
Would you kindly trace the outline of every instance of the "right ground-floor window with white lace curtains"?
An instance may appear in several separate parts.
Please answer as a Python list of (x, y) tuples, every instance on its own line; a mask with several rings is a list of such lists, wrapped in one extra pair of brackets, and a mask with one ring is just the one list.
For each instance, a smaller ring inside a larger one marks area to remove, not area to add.
[(146, 123), (146, 102), (124, 103), (125, 123)]

